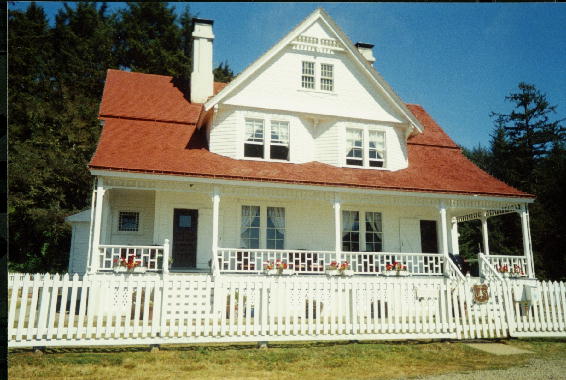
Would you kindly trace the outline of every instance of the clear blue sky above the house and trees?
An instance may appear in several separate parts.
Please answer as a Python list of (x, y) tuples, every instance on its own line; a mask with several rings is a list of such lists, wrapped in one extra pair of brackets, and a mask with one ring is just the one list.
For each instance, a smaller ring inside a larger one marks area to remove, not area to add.
[[(27, 2), (10, 5), (25, 9)], [(71, 3), (72, 4), (72, 3)], [(53, 17), (62, 3), (41, 2)], [(110, 3), (110, 9), (124, 3)], [(172, 3), (178, 11), (187, 3)], [(507, 113), (520, 81), (566, 117), (566, 4), (190, 3), (213, 19), (214, 61), (238, 73), (317, 7), (353, 42), (375, 45), (375, 67), (408, 103), (421, 104), (456, 143), (489, 143), (490, 111)]]

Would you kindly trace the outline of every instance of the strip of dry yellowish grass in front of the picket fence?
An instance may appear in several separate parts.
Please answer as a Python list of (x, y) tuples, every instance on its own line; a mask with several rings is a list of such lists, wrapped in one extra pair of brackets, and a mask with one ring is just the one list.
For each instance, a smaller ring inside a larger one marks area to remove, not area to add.
[(395, 379), (566, 358), (566, 340), (510, 340), (533, 354), (495, 356), (462, 342), (329, 342), (253, 345), (13, 349), (10, 379)]

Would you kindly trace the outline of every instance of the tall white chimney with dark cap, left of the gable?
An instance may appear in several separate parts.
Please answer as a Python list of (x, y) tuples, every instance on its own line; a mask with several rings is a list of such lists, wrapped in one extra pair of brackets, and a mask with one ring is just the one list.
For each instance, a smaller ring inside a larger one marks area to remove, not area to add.
[(204, 103), (212, 96), (213, 20), (193, 18), (193, 72), (191, 73), (191, 103)]

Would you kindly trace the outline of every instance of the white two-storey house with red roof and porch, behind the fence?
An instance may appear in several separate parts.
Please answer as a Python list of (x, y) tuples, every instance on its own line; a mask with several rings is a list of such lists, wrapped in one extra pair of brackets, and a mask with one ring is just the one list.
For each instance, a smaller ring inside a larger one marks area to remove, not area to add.
[[(213, 82), (213, 22), (195, 19), (193, 38), (190, 94), (108, 70), (90, 229), (69, 220), (71, 272), (112, 273), (135, 255), (148, 272), (263, 273), (281, 260), (300, 275), (348, 261), (360, 276), (393, 262), (445, 276), (458, 222), (481, 219), (493, 268), (534, 277), (533, 196), (467, 160), (375, 70), (373, 45), (322, 9), (228, 85)], [(487, 220), (509, 212), (524, 255), (490, 255)]]

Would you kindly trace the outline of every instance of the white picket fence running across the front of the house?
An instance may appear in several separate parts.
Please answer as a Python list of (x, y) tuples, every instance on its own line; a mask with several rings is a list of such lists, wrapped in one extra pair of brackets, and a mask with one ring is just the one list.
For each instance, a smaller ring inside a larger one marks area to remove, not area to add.
[[(9, 347), (566, 336), (563, 283), (195, 274), (9, 275)], [(530, 303), (525, 303), (530, 300)]]

